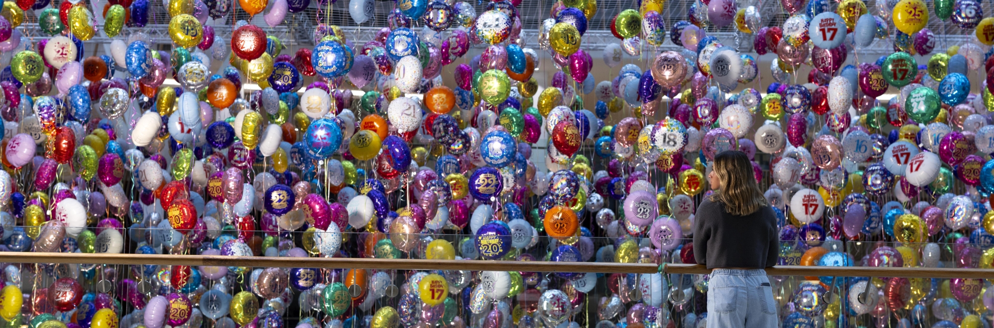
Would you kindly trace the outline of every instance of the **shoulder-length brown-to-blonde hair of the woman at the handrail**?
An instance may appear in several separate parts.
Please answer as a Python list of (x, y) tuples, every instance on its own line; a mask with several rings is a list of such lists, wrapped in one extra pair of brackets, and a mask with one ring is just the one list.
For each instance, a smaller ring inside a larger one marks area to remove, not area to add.
[(725, 205), (725, 211), (735, 216), (746, 216), (766, 206), (759, 185), (752, 172), (748, 156), (738, 150), (726, 150), (715, 156), (712, 170), (718, 174), (721, 186), (710, 197), (712, 202)]

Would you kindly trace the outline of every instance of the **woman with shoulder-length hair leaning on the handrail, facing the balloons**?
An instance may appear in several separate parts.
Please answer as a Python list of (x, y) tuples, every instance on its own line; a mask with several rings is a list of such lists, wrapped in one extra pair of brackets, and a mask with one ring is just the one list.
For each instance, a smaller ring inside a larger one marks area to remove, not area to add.
[(715, 156), (708, 182), (715, 193), (697, 209), (694, 257), (711, 271), (708, 328), (776, 327), (776, 303), (764, 267), (776, 264), (776, 215), (744, 152)]

